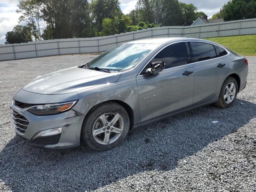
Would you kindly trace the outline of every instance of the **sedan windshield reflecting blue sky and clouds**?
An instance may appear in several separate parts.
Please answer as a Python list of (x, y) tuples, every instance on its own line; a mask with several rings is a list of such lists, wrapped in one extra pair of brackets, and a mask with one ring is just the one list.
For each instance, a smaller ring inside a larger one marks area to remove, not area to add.
[(158, 44), (123, 44), (116, 46), (90, 61), (85, 67), (90, 69), (101, 68), (111, 72), (128, 70), (136, 66), (157, 46)]

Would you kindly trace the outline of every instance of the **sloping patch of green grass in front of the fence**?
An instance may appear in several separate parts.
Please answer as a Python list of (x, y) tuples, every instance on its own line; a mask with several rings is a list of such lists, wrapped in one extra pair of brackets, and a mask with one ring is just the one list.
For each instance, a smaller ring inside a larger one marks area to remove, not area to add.
[(206, 38), (243, 56), (256, 56), (256, 35)]

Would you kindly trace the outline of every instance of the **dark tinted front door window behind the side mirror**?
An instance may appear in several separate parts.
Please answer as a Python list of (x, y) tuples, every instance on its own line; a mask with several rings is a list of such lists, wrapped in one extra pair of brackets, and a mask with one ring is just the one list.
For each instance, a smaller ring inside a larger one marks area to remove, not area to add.
[(188, 64), (185, 42), (172, 44), (164, 48), (150, 63), (157, 61), (163, 61), (166, 69)]

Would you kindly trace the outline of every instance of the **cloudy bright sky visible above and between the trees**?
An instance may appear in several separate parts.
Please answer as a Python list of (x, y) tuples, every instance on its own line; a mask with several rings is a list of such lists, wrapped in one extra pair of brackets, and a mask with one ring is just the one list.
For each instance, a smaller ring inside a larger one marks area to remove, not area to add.
[[(19, 0), (0, 0), (0, 44), (4, 44), (6, 32), (18, 24), (20, 14), (15, 12), (18, 2)], [(137, 0), (120, 0), (122, 12), (129, 13), (135, 8), (136, 2)], [(211, 18), (228, 0), (180, 0), (180, 2), (194, 4), (198, 11), (205, 12), (208, 18)]]

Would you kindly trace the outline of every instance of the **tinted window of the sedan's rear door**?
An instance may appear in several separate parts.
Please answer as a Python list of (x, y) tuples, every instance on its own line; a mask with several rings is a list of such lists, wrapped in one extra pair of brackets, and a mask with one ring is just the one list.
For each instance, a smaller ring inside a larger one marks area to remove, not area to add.
[(192, 62), (204, 61), (216, 58), (216, 51), (212, 44), (190, 42), (190, 54)]

